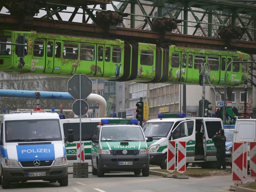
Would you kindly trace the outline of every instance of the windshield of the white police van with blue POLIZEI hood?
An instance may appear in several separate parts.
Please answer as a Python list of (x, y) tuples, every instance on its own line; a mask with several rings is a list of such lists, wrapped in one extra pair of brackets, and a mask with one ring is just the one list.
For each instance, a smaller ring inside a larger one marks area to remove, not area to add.
[(62, 140), (57, 119), (26, 119), (5, 121), (6, 142)]

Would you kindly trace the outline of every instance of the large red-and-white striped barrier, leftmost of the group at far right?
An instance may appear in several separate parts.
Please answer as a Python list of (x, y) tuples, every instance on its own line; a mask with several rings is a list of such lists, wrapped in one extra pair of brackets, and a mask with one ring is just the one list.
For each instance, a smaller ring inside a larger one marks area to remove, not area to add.
[(244, 143), (233, 142), (232, 181), (243, 181)]

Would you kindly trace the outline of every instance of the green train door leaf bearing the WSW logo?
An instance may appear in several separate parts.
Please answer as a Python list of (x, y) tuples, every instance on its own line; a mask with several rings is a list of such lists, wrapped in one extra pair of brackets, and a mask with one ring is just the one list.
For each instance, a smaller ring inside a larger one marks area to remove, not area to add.
[(62, 51), (62, 41), (54, 40), (53, 44), (53, 63), (52, 63), (52, 73), (58, 74), (62, 71), (61, 65), (61, 51)]

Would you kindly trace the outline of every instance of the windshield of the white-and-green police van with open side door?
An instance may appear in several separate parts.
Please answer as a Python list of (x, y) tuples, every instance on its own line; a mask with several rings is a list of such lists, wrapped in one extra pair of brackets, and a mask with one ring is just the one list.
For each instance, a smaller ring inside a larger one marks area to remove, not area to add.
[(167, 137), (173, 122), (148, 122), (142, 127), (145, 137)]

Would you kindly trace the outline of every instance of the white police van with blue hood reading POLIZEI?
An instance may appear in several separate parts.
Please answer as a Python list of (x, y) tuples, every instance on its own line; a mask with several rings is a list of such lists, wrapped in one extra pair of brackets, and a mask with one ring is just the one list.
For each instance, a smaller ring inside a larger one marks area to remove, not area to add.
[(34, 111), (0, 115), (1, 184), (46, 180), (68, 185), (64, 133), (57, 113)]

